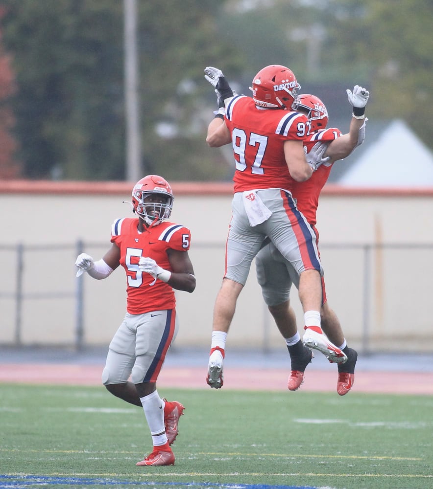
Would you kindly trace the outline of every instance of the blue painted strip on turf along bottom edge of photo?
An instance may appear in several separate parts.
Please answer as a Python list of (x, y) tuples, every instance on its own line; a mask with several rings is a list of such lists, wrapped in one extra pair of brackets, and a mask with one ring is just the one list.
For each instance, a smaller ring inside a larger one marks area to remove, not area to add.
[(0, 489), (6, 488), (36, 488), (45, 486), (114, 486), (131, 487), (143, 486), (152, 489), (176, 488), (206, 488), (206, 489), (317, 489), (312, 486), (267, 486), (264, 484), (224, 484), (217, 482), (135, 482), (118, 479), (101, 479), (89, 477), (46, 477), (42, 475), (2, 475), (0, 474)]

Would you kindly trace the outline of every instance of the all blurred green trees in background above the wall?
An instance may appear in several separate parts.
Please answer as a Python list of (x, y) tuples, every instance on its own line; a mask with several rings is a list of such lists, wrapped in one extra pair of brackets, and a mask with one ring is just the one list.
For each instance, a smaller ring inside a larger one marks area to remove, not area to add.
[[(125, 178), (123, 1), (2, 3), (1, 42), (16, 73), (10, 108), (23, 176)], [(347, 114), (341, 87), (365, 85), (371, 118), (403, 118), (433, 148), (431, 1), (137, 5), (143, 173), (230, 178), (221, 153), (204, 141), (215, 106), (203, 78), (208, 65), (223, 68), (249, 93), (259, 69), (285, 64), (304, 91), (309, 85), (321, 93), (341, 91), (336, 107), (328, 106), (337, 117)]]

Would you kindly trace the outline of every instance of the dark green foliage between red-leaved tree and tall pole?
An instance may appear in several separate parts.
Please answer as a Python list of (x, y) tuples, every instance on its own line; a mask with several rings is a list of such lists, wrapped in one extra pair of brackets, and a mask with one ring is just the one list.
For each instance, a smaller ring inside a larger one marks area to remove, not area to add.
[(119, 2), (7, 2), (17, 130), (25, 175), (121, 178), (122, 15)]

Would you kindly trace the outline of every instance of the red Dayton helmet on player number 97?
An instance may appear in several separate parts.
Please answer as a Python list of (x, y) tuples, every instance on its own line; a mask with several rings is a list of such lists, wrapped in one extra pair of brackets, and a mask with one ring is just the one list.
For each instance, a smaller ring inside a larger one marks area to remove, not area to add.
[(284, 110), (291, 110), (300, 88), (293, 71), (281, 65), (262, 68), (250, 87), (257, 106)]

